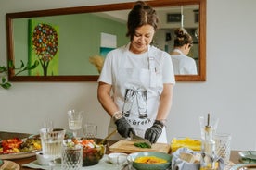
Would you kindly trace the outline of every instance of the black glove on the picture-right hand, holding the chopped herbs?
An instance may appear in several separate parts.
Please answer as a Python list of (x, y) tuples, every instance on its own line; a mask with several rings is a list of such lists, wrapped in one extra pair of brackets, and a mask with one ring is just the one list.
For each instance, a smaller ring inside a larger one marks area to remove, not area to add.
[(151, 143), (157, 142), (160, 138), (163, 126), (164, 125), (161, 121), (155, 120), (153, 126), (151, 128), (147, 128), (145, 132), (145, 139), (149, 140)]

